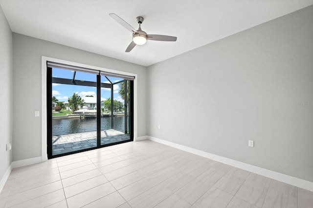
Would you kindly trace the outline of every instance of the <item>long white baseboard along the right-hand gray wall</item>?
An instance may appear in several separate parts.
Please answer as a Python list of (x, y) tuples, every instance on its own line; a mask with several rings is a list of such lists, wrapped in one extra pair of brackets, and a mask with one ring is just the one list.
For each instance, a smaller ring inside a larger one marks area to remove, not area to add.
[(226, 157), (222, 157), (222, 156), (219, 156), (216, 154), (211, 154), (211, 153), (208, 153), (205, 151), (201, 151), (201, 150), (193, 149), (193, 148), (186, 147), (183, 145), (179, 145), (179, 144), (176, 144), (174, 142), (169, 142), (169, 141), (159, 139), (156, 137), (146, 136), (146, 138), (149, 140), (170, 146), (170, 147), (177, 148), (179, 150), (187, 151), (187, 152), (197, 154), (199, 156), (206, 157), (206, 158), (209, 158), (209, 159), (212, 159), (212, 160), (215, 160), (215, 161), (218, 161), (218, 162), (221, 162), (221, 163), (224, 163), (224, 164), (236, 167), (236, 168), (247, 170), (247, 171), (259, 174), (259, 175), (263, 175), (263, 176), (266, 176), (268, 178), (271, 178), (271, 179), (274, 179), (277, 181), (281, 181), (283, 183), (287, 183), (287, 184), (290, 184), (292, 186), (299, 187), (301, 189), (313, 191), (313, 182), (311, 182), (311, 181), (306, 181), (306, 180), (303, 180), (300, 178), (292, 177), (290, 175), (285, 175), (285, 174), (275, 172), (272, 170), (267, 170), (267, 169), (260, 168), (257, 166), (249, 165), (246, 163), (242, 163), (242, 162), (232, 160), (232, 159), (229, 159)]

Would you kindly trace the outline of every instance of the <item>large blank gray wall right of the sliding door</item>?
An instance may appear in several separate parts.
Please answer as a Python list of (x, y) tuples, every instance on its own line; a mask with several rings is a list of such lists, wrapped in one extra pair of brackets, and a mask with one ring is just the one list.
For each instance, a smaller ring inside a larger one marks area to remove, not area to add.
[(313, 182), (313, 6), (152, 65), (147, 83), (148, 135)]

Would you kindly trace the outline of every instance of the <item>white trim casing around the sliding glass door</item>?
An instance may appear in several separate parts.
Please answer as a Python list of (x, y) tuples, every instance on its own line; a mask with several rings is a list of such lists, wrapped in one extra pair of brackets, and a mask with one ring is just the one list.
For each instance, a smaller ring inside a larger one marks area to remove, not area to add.
[(120, 75), (126, 75), (126, 76), (134, 76), (134, 140), (137, 138), (137, 90), (138, 90), (138, 75), (129, 73), (129, 72), (122, 72), (117, 71), (113, 69), (106, 69), (102, 67), (97, 66), (91, 66), (87, 64), (82, 63), (76, 63), (72, 61), (62, 60), (58, 58), (51, 58), (51, 57), (44, 57), (42, 56), (42, 65), (41, 65), (41, 111), (42, 111), (42, 117), (41, 117), (41, 138), (42, 138), (42, 145), (41, 145), (41, 162), (44, 162), (48, 159), (47, 157), (47, 141), (46, 141), (46, 135), (47, 135), (47, 111), (46, 111), (46, 61), (61, 63), (61, 64), (67, 64), (77, 67), (83, 67), (83, 68), (90, 68), (99, 70), (102, 72), (109, 72), (114, 74), (120, 74)]

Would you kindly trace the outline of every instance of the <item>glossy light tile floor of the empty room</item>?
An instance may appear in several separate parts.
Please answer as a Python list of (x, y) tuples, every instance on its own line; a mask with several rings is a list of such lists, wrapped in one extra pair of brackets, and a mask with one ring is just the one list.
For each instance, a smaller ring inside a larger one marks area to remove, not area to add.
[(313, 208), (313, 192), (153, 141), (12, 170), (1, 208)]

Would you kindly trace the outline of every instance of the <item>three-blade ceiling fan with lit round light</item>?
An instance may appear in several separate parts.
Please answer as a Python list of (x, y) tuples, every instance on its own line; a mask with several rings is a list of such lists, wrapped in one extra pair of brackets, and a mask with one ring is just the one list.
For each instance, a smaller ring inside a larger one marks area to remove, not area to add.
[(158, 41), (176, 41), (177, 37), (173, 36), (163, 36), (163, 35), (147, 35), (146, 32), (141, 30), (140, 25), (143, 22), (143, 17), (137, 17), (136, 20), (139, 24), (138, 30), (135, 30), (130, 24), (128, 24), (124, 19), (118, 17), (116, 14), (109, 14), (113, 19), (120, 23), (123, 27), (133, 33), (133, 41), (129, 44), (125, 52), (130, 52), (136, 45), (143, 45), (148, 40), (158, 40)]

